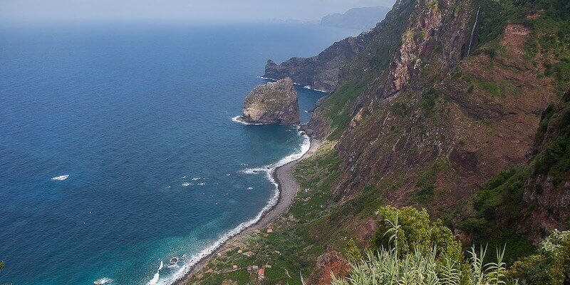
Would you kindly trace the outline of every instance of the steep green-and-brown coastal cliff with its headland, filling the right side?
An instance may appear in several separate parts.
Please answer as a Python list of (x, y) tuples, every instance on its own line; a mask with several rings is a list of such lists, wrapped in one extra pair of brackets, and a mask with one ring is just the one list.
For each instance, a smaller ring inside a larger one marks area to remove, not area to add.
[(289, 214), (233, 248), (252, 257), (224, 262), (270, 260), (258, 284), (299, 283), (289, 271), (329, 284), (348, 271), (340, 257), (361, 260), (385, 236), (386, 205), (424, 209), (465, 247), (507, 244), (507, 266), (567, 229), (568, 5), (398, 0), (368, 33), (269, 61), (266, 77), (333, 91), (304, 126), (322, 143), (296, 167)]

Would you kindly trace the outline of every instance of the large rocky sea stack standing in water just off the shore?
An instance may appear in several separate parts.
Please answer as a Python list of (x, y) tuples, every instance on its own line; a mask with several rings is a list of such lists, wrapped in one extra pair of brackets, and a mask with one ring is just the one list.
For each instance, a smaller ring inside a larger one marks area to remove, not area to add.
[(244, 102), (247, 123), (292, 125), (299, 123), (299, 102), (291, 78), (254, 88)]

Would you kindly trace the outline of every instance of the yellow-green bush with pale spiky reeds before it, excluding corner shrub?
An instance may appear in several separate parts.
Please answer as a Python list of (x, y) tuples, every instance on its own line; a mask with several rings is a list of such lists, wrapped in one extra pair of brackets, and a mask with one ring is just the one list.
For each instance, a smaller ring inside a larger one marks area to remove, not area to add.
[(368, 251), (366, 259), (351, 262), (348, 278), (333, 276), (333, 285), (506, 284), (504, 249), (497, 250), (496, 262), (484, 264), (487, 248), (476, 250), (474, 246), (465, 262), (461, 252), (455, 252), (460, 247), (450, 229), (437, 222), (430, 224), (425, 211), (383, 207), (379, 212), (383, 214), (380, 223), (385, 229), (376, 234), (380, 247)]

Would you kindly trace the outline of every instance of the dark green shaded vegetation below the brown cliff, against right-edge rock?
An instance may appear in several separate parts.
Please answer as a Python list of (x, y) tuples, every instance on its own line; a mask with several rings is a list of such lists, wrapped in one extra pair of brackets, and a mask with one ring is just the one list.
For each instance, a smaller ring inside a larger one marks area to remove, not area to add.
[(507, 264), (528, 256), (534, 250), (530, 242), (515, 233), (517, 224), (529, 218), (528, 211), (524, 209), (532, 207), (523, 201), (524, 191), (541, 187), (542, 180), (546, 178), (539, 177), (549, 177), (554, 190), (568, 180), (570, 93), (542, 113), (536, 137), (537, 150), (529, 165), (499, 172), (473, 195), (474, 212), (456, 213), (463, 216), (456, 227), (470, 233), (475, 242), (511, 244), (505, 253)]

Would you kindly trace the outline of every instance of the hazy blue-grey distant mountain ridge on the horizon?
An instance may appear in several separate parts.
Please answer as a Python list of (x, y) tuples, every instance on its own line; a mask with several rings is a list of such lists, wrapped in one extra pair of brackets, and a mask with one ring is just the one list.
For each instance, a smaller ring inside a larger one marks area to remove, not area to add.
[(382, 21), (390, 8), (383, 6), (353, 8), (344, 14), (331, 14), (321, 19), (321, 26), (356, 28), (368, 31)]

